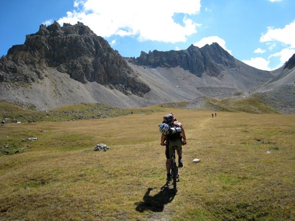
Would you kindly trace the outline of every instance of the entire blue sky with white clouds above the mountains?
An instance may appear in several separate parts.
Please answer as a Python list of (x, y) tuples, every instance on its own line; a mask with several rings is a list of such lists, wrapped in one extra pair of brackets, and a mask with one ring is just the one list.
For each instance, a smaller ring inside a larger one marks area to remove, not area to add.
[(0, 55), (39, 25), (89, 26), (123, 56), (219, 43), (272, 70), (295, 53), (295, 0), (0, 0)]

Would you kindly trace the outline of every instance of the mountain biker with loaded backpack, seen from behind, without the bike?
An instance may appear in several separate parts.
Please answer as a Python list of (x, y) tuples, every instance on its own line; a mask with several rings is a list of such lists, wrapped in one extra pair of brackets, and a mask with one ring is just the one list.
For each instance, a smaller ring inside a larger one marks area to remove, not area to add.
[[(166, 170), (167, 170), (167, 181), (170, 181), (170, 170), (171, 170), (171, 162), (173, 157), (173, 147), (176, 146), (177, 155), (178, 155), (178, 167), (183, 166), (182, 161), (182, 145), (186, 144), (186, 137), (184, 133), (183, 126), (180, 122), (177, 121), (177, 119), (174, 117), (173, 113), (166, 114), (163, 117), (163, 124), (166, 123), (170, 127), (180, 127), (181, 132), (175, 133), (175, 134), (162, 134), (161, 136), (161, 145), (166, 145), (165, 155), (166, 155)], [(166, 140), (166, 143), (165, 143)]]

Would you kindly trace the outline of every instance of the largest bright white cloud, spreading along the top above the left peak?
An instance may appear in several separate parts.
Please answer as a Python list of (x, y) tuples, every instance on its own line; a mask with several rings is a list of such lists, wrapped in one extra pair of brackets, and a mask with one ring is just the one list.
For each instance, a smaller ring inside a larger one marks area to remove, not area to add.
[[(77, 10), (67, 12), (58, 22), (89, 26), (97, 35), (135, 35), (139, 41), (185, 42), (200, 26), (187, 16), (200, 12), (200, 0), (75, 0)], [(184, 14), (183, 25), (173, 20)]]

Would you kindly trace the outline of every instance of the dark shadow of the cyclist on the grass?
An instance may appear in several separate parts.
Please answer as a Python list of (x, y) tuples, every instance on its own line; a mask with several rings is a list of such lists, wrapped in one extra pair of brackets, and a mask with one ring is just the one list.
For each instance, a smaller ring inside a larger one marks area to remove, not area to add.
[(144, 195), (142, 202), (136, 202), (136, 210), (139, 212), (144, 212), (150, 210), (152, 212), (162, 212), (164, 205), (172, 202), (175, 194), (169, 189), (168, 182), (161, 187), (159, 193), (151, 196), (149, 195), (150, 191), (154, 188), (148, 188), (148, 191)]

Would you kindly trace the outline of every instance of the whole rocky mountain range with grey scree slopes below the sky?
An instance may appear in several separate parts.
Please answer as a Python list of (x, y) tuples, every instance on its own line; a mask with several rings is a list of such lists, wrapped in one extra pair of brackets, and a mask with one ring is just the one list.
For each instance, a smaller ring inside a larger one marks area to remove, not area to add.
[(59, 23), (26, 36), (0, 58), (0, 99), (36, 110), (74, 103), (118, 108), (204, 97), (259, 95), (280, 112), (295, 112), (295, 55), (274, 71), (251, 67), (217, 43), (186, 50), (122, 57), (83, 23)]

